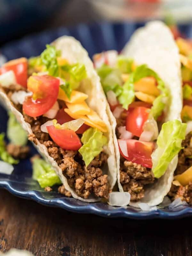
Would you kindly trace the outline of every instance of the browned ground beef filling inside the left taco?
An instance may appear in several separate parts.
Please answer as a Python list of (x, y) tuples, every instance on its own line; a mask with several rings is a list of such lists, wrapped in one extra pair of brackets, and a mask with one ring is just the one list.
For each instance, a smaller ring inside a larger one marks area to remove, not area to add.
[[(36, 139), (47, 147), (48, 153), (60, 166), (63, 175), (67, 178), (68, 184), (73, 188), (78, 196), (88, 198), (92, 193), (97, 197), (108, 198), (109, 184), (108, 176), (103, 175), (102, 167), (107, 163), (108, 156), (101, 152), (86, 167), (82, 156), (78, 151), (64, 150), (52, 141), (48, 133), (41, 131), (41, 125), (49, 119), (43, 116), (34, 118), (24, 114), (25, 121), (31, 125), (34, 134), (29, 136), (29, 140), (36, 143)], [(66, 196), (66, 189), (60, 187), (59, 191)]]

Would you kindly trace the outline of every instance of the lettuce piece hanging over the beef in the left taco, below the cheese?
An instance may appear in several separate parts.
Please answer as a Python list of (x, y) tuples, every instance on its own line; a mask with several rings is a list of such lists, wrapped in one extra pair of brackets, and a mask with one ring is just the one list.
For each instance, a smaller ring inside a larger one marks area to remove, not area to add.
[(83, 133), (81, 141), (84, 145), (79, 149), (79, 152), (87, 166), (103, 150), (102, 147), (107, 144), (107, 137), (96, 128), (89, 128)]

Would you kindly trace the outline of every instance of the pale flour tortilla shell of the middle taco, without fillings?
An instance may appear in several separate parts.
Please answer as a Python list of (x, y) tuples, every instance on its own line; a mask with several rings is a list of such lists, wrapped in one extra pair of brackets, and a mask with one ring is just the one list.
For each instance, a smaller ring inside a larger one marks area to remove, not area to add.
[[(149, 68), (163, 79), (171, 95), (169, 109), (166, 109), (165, 122), (179, 119), (182, 109), (182, 81), (180, 71), (179, 51), (169, 28), (161, 21), (152, 21), (143, 28), (139, 28), (131, 37), (122, 51), (126, 57), (133, 58), (137, 65), (147, 64)], [(120, 183), (120, 153), (118, 142), (113, 129), (114, 144), (117, 160), (117, 180), (119, 190), (123, 191)], [(139, 202), (130, 202), (138, 206), (145, 202), (149, 206), (160, 204), (169, 192), (173, 180), (173, 173), (177, 166), (178, 156), (174, 157), (165, 174), (154, 184), (145, 188), (144, 198)]]

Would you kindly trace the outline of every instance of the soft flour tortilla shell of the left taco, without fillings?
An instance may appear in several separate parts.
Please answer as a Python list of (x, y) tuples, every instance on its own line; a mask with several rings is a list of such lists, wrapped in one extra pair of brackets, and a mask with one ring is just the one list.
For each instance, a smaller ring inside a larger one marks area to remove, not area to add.
[[(105, 122), (108, 132), (105, 135), (108, 137), (108, 146), (105, 149), (106, 153), (108, 153), (108, 180), (110, 184), (110, 188), (112, 189), (116, 183), (117, 176), (117, 165), (115, 159), (115, 149), (113, 144), (113, 133), (111, 129), (111, 125), (108, 119), (107, 111), (108, 111), (108, 102), (105, 98), (105, 94), (100, 84), (100, 78), (97, 75), (96, 71), (93, 68), (92, 61), (88, 57), (88, 53), (84, 50), (82, 45), (73, 37), (70, 36), (62, 36), (58, 38), (56, 41), (52, 43), (55, 45), (57, 50), (61, 50), (61, 56), (66, 58), (70, 64), (74, 63), (82, 63), (85, 65), (87, 71), (87, 79), (80, 86), (80, 91), (88, 94), (87, 104), (90, 108), (95, 110), (100, 118)], [(12, 102), (8, 99), (6, 94), (0, 89), (0, 102), (9, 110), (13, 112), (16, 116), (18, 122), (22, 125), (23, 129), (28, 132), (28, 134), (32, 134), (30, 124), (26, 123), (23, 115), (14, 108)], [(35, 144), (34, 144), (35, 145)], [(65, 188), (71, 192), (74, 198), (85, 202), (95, 202), (99, 201), (99, 198), (89, 198), (84, 199), (82, 197), (77, 196), (76, 192), (69, 187), (66, 177), (62, 174), (62, 171), (56, 161), (49, 156), (47, 148), (41, 144), (36, 139), (36, 148), (39, 153), (45, 158), (47, 162), (49, 162), (56, 173), (59, 175), (63, 185)]]

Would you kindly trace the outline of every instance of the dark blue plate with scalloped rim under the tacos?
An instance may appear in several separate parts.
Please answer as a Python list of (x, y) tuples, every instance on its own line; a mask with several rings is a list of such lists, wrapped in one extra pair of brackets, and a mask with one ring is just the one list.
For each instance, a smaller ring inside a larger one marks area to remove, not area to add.
[[(26, 36), (19, 41), (6, 44), (1, 52), (8, 60), (39, 55), (45, 48), (45, 44), (51, 43), (59, 36), (68, 35), (78, 39), (89, 52), (90, 57), (96, 52), (116, 49), (121, 51), (129, 40), (134, 30), (142, 23), (102, 23), (87, 26), (80, 24), (75, 28), (58, 28), (54, 31), (44, 31), (37, 35)], [(181, 31), (188, 37), (192, 37), (192, 26), (180, 26)], [(0, 107), (0, 132), (6, 132), (7, 114)], [(31, 156), (36, 150), (31, 146)], [(29, 158), (15, 165), (11, 175), (0, 174), (0, 187), (10, 191), (15, 196), (35, 200), (47, 206), (60, 207), (71, 212), (93, 213), (104, 217), (126, 217), (133, 219), (175, 219), (192, 215), (192, 208), (180, 205), (172, 210), (157, 208), (153, 211), (141, 211), (128, 206), (113, 207), (103, 203), (84, 203), (74, 198), (66, 198), (57, 193), (56, 188), (52, 192), (45, 192), (38, 183), (31, 179), (31, 164)]]

